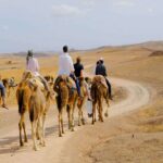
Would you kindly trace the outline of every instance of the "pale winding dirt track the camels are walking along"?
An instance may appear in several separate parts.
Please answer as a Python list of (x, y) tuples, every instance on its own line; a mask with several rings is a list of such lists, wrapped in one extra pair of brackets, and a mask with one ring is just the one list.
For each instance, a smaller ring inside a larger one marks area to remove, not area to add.
[[(110, 117), (128, 113), (129, 111), (139, 109), (149, 102), (150, 93), (148, 89), (140, 84), (118, 78), (112, 78), (111, 82), (114, 85), (126, 89), (127, 98), (117, 104), (111, 103)], [(102, 127), (99, 127), (98, 130), (96, 130), (96, 127), (99, 125), (106, 126), (109, 123), (108, 120), (105, 120), (105, 123), (97, 123), (97, 125), (91, 126), (90, 121), (88, 120), (88, 125), (85, 127), (76, 127), (75, 133), (66, 131), (66, 135), (63, 138), (59, 138), (57, 111), (51, 109), (47, 120), (47, 147), (34, 152), (32, 150), (30, 139), (24, 148), (18, 147), (17, 110), (0, 110), (0, 162), (3, 163), (83, 162), (82, 159), (78, 160), (82, 153), (79, 153), (79, 150), (76, 148), (83, 146), (82, 141), (85, 141), (85, 146), (90, 148), (90, 145), (97, 140), (96, 137), (95, 139), (92, 138), (93, 135), (104, 131), (102, 130)], [(87, 135), (87, 131), (90, 131), (90, 128), (93, 128), (92, 136), (91, 134), (89, 134), (89, 136)], [(101, 130), (99, 130), (100, 128)], [(30, 135), (29, 125), (27, 126), (27, 133)]]

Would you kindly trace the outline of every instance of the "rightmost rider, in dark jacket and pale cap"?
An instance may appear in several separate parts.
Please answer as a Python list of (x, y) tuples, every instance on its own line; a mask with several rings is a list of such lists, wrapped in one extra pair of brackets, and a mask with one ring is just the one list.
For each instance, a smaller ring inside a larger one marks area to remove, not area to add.
[(111, 84), (110, 84), (110, 82), (109, 82), (109, 79), (106, 77), (108, 76), (106, 68), (104, 66), (102, 58), (99, 60), (99, 64), (97, 64), (96, 75), (102, 75), (102, 76), (104, 76), (106, 85), (108, 85), (108, 88), (109, 88), (109, 98), (112, 100), (112, 87), (111, 87)]

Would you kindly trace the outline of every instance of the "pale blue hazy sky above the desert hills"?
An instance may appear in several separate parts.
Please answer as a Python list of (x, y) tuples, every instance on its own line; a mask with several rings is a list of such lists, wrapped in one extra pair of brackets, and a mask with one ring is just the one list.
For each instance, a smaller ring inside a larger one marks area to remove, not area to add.
[(163, 40), (163, 0), (0, 0), (0, 53)]

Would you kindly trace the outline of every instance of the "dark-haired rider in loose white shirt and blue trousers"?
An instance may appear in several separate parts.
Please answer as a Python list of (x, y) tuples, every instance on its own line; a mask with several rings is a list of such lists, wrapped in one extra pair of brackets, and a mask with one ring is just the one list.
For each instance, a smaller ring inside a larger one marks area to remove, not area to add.
[(71, 55), (68, 54), (68, 47), (63, 47), (63, 53), (59, 58), (59, 75), (67, 75), (72, 77), (76, 84), (78, 96), (80, 97), (79, 83), (74, 75), (74, 65)]

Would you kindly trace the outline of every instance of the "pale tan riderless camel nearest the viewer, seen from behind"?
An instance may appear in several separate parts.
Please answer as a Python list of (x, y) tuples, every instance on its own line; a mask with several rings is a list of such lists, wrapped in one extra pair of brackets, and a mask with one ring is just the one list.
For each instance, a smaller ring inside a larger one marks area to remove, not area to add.
[(46, 114), (50, 108), (50, 92), (46, 96), (40, 87), (35, 86), (29, 99), (29, 118), (32, 124), (32, 137), (34, 142), (34, 150), (38, 150), (36, 140), (37, 133), (40, 145), (46, 146), (45, 141), (45, 121)]

